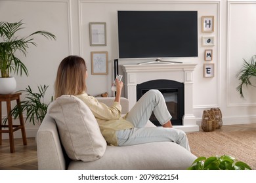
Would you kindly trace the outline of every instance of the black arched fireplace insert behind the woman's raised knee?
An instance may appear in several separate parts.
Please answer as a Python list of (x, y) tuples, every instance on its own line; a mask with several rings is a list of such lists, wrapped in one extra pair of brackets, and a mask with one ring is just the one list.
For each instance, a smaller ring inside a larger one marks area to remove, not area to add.
[[(137, 101), (150, 89), (157, 89), (165, 98), (167, 109), (172, 118), (173, 125), (182, 125), (182, 117), (184, 116), (184, 84), (174, 80), (150, 80), (137, 85)], [(150, 117), (150, 121), (155, 125), (160, 125), (156, 119), (154, 112)]]

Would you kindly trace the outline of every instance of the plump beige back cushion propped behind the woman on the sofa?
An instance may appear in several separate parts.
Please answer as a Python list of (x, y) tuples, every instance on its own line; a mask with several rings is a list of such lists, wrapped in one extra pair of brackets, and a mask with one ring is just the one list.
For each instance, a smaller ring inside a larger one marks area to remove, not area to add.
[(49, 107), (57, 124), (60, 141), (73, 160), (94, 161), (106, 150), (106, 141), (93, 113), (74, 95), (62, 95)]

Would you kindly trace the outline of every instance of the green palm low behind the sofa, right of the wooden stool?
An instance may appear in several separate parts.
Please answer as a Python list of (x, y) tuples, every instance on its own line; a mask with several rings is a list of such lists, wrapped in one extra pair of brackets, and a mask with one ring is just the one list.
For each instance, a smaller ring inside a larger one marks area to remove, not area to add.
[[(20, 112), (26, 112), (26, 122), (32, 122), (35, 125), (35, 122), (39, 125), (43, 122), (45, 114), (47, 113), (47, 108), (49, 104), (53, 101), (51, 97), (50, 103), (44, 102), (45, 92), (49, 86), (37, 86), (39, 93), (33, 92), (30, 86), (26, 90), (20, 90), (20, 92), (25, 92), (26, 97), (24, 101), (20, 102), (20, 106), (16, 105), (11, 110), (11, 115), (14, 119), (19, 117)], [(4, 123), (7, 122), (7, 117), (3, 120)]]

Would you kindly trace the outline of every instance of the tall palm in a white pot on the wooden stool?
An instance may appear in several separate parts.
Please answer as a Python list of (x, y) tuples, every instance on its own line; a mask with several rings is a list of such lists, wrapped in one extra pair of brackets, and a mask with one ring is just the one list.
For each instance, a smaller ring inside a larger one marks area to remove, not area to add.
[[(33, 35), (43, 35), (47, 39), (56, 39), (56, 37), (47, 31), (35, 31), (27, 37), (18, 37), (16, 33), (23, 29), (23, 23), (20, 22), (0, 22), (0, 94), (12, 93), (16, 89), (16, 81), (10, 76), (11, 73), (22, 76), (25, 73), (28, 76), (28, 69), (22, 61), (16, 57), (16, 52), (21, 52), (26, 56), (27, 48), (30, 44), (37, 46), (33, 42)], [(5, 86), (1, 86), (5, 84)]]

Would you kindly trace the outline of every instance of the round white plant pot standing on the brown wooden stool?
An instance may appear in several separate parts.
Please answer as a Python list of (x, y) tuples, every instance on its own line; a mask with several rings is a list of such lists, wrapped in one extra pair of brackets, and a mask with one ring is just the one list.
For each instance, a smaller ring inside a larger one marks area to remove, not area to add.
[(16, 80), (14, 77), (0, 78), (0, 94), (14, 93), (16, 90)]

